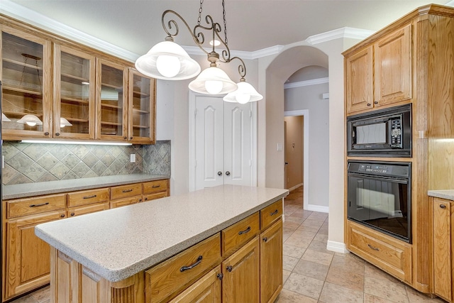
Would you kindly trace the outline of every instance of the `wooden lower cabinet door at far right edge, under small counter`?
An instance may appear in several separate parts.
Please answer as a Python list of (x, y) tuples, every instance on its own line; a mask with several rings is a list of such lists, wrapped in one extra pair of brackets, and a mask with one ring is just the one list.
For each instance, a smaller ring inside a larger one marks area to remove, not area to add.
[(433, 292), (453, 302), (453, 201), (431, 198), (433, 211)]

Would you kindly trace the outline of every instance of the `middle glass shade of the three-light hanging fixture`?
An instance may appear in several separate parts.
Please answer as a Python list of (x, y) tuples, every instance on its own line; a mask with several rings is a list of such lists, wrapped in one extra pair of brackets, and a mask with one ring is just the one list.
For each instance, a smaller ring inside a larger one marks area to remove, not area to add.
[(196, 79), (189, 83), (189, 89), (200, 94), (227, 94), (236, 90), (238, 86), (226, 72), (218, 67), (208, 67)]

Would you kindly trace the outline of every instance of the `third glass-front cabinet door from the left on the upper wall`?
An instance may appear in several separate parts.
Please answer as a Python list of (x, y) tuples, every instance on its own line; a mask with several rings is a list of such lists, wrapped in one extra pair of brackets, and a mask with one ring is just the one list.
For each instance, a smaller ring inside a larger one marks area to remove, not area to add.
[(102, 59), (96, 68), (96, 138), (127, 141), (128, 69)]

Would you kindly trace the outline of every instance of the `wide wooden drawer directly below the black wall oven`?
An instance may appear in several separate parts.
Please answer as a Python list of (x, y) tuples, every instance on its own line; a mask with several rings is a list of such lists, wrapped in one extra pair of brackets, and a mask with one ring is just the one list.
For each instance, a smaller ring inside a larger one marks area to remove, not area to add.
[(411, 246), (383, 233), (348, 222), (348, 249), (365, 260), (411, 282)]

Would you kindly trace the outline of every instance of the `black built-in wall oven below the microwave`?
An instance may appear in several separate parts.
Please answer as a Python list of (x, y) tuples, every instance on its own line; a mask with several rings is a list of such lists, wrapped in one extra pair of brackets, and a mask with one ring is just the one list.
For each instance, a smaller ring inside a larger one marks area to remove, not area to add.
[(411, 243), (411, 163), (348, 161), (348, 219)]

